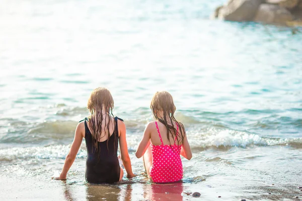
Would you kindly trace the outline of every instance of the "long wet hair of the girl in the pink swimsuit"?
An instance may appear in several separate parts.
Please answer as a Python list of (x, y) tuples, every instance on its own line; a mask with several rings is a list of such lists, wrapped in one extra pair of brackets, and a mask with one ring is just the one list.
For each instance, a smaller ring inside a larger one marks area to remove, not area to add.
[[(177, 138), (177, 144), (183, 143), (185, 137), (185, 128), (184, 125), (181, 122), (178, 122), (174, 117), (176, 107), (174, 105), (172, 95), (167, 91), (157, 91), (151, 100), (150, 108), (152, 110), (154, 119), (156, 121), (160, 121), (166, 126), (170, 147), (172, 148), (170, 142), (170, 133), (172, 134), (174, 139), (175, 137)], [(160, 111), (163, 112), (163, 117), (159, 115)], [(171, 121), (172, 125), (168, 124), (168, 120)], [(178, 124), (178, 134), (177, 129), (173, 126), (173, 122), (176, 122)]]

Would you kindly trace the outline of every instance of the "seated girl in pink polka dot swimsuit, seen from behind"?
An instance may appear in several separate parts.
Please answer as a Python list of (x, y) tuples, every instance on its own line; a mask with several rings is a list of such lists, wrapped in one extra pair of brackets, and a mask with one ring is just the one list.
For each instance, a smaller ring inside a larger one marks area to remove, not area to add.
[(190, 160), (192, 152), (182, 123), (176, 121), (173, 97), (167, 91), (158, 91), (150, 104), (155, 122), (145, 128), (136, 150), (150, 180), (157, 183), (175, 182), (183, 177), (180, 155)]

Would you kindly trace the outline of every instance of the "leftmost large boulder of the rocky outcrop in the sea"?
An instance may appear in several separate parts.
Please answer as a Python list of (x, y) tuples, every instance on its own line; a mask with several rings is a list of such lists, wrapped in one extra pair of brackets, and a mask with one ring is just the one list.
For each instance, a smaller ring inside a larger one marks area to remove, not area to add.
[(218, 18), (228, 21), (252, 21), (262, 0), (229, 0), (219, 9)]

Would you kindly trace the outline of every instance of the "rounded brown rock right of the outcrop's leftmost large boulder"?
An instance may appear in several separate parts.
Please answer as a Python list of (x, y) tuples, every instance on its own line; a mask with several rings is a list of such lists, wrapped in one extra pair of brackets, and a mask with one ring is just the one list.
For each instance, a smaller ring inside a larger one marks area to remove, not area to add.
[(286, 24), (292, 21), (293, 16), (289, 11), (280, 8), (278, 5), (262, 4), (254, 18), (255, 22), (263, 22), (268, 24)]

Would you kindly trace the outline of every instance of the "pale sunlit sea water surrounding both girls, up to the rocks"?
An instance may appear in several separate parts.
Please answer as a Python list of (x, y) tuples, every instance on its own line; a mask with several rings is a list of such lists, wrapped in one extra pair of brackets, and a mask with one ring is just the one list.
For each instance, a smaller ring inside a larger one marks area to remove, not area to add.
[[(152, 121), (150, 99), (167, 90), (193, 151), (192, 160), (183, 160), (179, 191), (199, 191), (207, 200), (220, 192), (228, 200), (300, 196), (302, 29), (209, 20), (223, 2), (5, 0), (7, 7), (0, 8), (2, 180), (38, 178), (40, 186), (61, 192), (58, 199), (103, 196), (94, 193), (102, 187), (85, 183), (85, 142), (68, 174), (71, 190), (49, 178), (60, 171), (75, 126), (89, 115), (91, 90), (105, 86), (114, 97), (114, 115), (125, 120), (136, 173), (143, 170), (134, 152)], [(118, 191), (108, 199), (168, 196), (150, 194), (157, 186), (144, 175), (123, 182), (105, 187)], [(77, 189), (84, 194), (72, 194)], [(39, 197), (27, 197), (32, 198)]]

